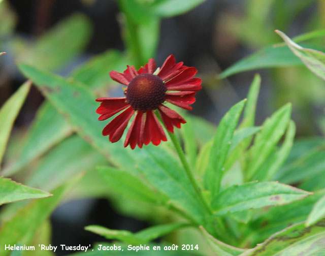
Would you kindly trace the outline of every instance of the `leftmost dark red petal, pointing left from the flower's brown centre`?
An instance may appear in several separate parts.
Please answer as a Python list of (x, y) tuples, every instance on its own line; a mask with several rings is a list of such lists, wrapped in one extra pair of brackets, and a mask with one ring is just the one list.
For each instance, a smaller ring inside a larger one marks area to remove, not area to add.
[(96, 113), (101, 116), (98, 120), (106, 120), (121, 110), (125, 109), (129, 104), (125, 103), (125, 98), (99, 98), (96, 101), (102, 101), (101, 106), (98, 107)]

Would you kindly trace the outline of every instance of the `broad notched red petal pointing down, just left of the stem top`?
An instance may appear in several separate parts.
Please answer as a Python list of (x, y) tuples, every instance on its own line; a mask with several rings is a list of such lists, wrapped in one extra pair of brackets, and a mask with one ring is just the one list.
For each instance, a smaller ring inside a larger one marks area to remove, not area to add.
[(143, 131), (143, 143), (148, 145), (151, 141), (153, 145), (157, 146), (160, 144), (161, 140), (167, 141), (163, 127), (161, 127), (153, 111), (147, 111)]

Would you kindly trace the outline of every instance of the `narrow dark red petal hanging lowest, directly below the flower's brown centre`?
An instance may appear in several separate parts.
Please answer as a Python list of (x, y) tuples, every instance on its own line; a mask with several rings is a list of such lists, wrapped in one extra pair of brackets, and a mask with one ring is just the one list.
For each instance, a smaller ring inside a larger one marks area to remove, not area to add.
[(131, 127), (129, 128), (126, 139), (124, 142), (124, 147), (127, 147), (129, 144), (132, 149), (138, 146), (142, 148), (143, 142), (141, 137), (141, 129), (143, 130), (144, 126), (144, 118), (143, 118), (143, 112), (138, 111), (136, 117), (134, 118)]

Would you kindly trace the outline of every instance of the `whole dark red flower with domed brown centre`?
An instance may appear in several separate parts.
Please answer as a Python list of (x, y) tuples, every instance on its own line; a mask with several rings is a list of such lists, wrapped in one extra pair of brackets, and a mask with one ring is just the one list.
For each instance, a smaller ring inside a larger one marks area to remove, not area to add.
[[(106, 120), (122, 111), (103, 130), (103, 135), (109, 135), (111, 142), (117, 142), (123, 135), (128, 121), (135, 115), (126, 135), (124, 147), (130, 145), (132, 149), (138, 145), (148, 145), (150, 141), (159, 145), (160, 141), (167, 141), (163, 127), (156, 114), (160, 114), (165, 127), (174, 133), (174, 126), (180, 128), (185, 123), (174, 110), (166, 107), (165, 101), (178, 107), (191, 110), (188, 106), (195, 102), (194, 95), (202, 87), (200, 78), (193, 78), (197, 74), (196, 68), (183, 66), (183, 62), (176, 63), (174, 55), (170, 55), (158, 71), (153, 75), (156, 63), (151, 58), (138, 71), (134, 66), (127, 66), (122, 73), (110, 72), (110, 77), (126, 85), (125, 97), (99, 98), (101, 106), (96, 110), (101, 116), (99, 120)], [(154, 111), (158, 110), (158, 111)]]

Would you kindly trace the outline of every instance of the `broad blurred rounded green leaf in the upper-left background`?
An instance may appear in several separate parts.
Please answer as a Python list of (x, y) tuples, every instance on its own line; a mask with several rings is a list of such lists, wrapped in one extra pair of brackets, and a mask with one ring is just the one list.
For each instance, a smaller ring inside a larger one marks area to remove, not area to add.
[(32, 45), (16, 49), (18, 60), (43, 69), (59, 69), (79, 54), (89, 40), (88, 18), (75, 14), (62, 20)]

